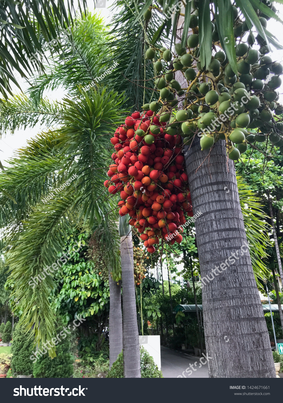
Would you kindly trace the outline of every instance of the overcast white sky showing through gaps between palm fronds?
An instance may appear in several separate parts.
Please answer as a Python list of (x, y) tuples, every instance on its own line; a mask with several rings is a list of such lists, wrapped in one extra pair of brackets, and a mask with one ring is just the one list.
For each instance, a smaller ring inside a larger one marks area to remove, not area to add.
[[(100, 2), (99, 4), (104, 5), (106, 3), (106, 7), (103, 8), (96, 8), (97, 12), (101, 13), (101, 15), (104, 17), (105, 21), (108, 23), (111, 20), (111, 13), (108, 7), (110, 7), (113, 3), (113, 0), (98, 0)], [(275, 4), (276, 8), (279, 10), (279, 17), (283, 20), (283, 5), (281, 4)], [(94, 10), (94, 3), (93, 0), (89, 0), (89, 10), (93, 11)], [(279, 42), (282, 43), (282, 37), (283, 37), (283, 26), (280, 23), (277, 23), (276, 21), (268, 21), (267, 29), (273, 33)], [(271, 57), (273, 60), (277, 60), (282, 62), (283, 61), (283, 51), (282, 50), (274, 50), (273, 54), (271, 54)], [(27, 85), (23, 81), (23, 79), (19, 78), (19, 83), (23, 90), (27, 88)], [(281, 87), (279, 89), (280, 93), (282, 94)], [(62, 99), (66, 94), (63, 93), (62, 89), (59, 89), (57, 91), (49, 91), (48, 92), (48, 98), (50, 100), (54, 99)], [(281, 102), (283, 103), (283, 96), (281, 95)], [(13, 135), (11, 135), (9, 132), (3, 133), (2, 138), (0, 139), (0, 161), (2, 163), (6, 160), (8, 160), (10, 157), (12, 157), (14, 150), (17, 150), (18, 148), (24, 147), (27, 143), (27, 139), (30, 139), (31, 137), (34, 137), (37, 133), (39, 133), (43, 127), (40, 127), (38, 124), (36, 127), (33, 129), (20, 129), (15, 131)], [(4, 163), (4, 165), (8, 165), (7, 163)]]

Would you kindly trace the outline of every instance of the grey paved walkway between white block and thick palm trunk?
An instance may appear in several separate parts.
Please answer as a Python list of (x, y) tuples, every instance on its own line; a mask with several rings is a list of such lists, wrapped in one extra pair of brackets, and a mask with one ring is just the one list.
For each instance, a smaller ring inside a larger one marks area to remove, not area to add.
[(200, 364), (200, 357), (161, 346), (161, 371), (164, 378), (177, 378), (178, 375), (182, 378), (208, 378), (207, 360), (203, 358), (201, 361), (204, 365)]

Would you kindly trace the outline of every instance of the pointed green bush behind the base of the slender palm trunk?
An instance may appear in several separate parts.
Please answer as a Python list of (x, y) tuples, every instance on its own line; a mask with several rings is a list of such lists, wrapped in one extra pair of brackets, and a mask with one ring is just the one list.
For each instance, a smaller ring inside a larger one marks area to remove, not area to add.
[[(140, 373), (142, 378), (163, 378), (162, 372), (159, 371), (153, 358), (143, 346), (140, 346)], [(123, 350), (113, 363), (106, 378), (124, 378)]]

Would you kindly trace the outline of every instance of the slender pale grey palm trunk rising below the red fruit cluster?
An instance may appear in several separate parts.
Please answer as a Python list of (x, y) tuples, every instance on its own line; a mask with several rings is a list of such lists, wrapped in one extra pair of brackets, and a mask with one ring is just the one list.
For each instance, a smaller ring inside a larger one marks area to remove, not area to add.
[(124, 377), (140, 378), (132, 232), (121, 237)]

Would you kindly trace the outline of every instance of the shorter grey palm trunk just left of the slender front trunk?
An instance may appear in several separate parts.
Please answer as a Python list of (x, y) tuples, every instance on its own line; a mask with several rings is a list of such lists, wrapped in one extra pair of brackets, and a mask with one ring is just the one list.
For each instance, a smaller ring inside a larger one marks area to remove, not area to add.
[(114, 281), (109, 273), (109, 368), (123, 348), (121, 282)]

